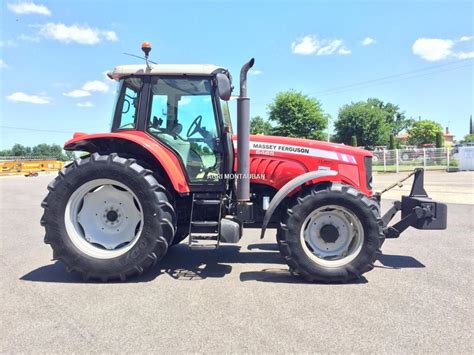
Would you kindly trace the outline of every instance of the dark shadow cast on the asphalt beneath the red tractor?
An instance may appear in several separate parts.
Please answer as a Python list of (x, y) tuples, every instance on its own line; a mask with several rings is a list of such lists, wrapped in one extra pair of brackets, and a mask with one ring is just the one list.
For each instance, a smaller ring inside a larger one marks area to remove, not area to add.
[[(246, 250), (245, 250), (245, 249)], [(378, 268), (403, 269), (422, 268), (422, 263), (410, 256), (381, 255)], [(167, 275), (177, 281), (199, 281), (208, 278), (223, 278), (232, 272), (233, 266), (239, 264), (266, 264), (259, 271), (242, 271), (241, 282), (258, 281), (271, 283), (309, 284), (293, 275), (281, 257), (276, 244), (250, 244), (246, 247), (236, 245), (221, 246), (219, 249), (190, 249), (185, 244), (174, 246), (153, 269), (142, 276), (133, 277), (126, 283), (151, 282), (159, 276)], [(268, 267), (274, 265), (275, 267)], [(94, 283), (100, 281), (83, 281), (77, 273), (68, 273), (63, 264), (55, 262), (41, 266), (20, 277), (23, 281), (48, 283)], [(109, 283), (122, 283), (109, 281)], [(365, 284), (362, 277), (352, 284)]]

